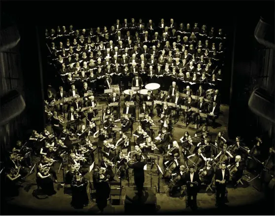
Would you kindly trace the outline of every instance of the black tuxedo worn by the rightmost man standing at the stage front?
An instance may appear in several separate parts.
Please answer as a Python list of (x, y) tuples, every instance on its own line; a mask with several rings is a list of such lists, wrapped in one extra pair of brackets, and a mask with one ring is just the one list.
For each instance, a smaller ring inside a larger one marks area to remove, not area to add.
[(216, 203), (217, 204), (224, 204), (224, 196), (225, 196), (225, 190), (226, 190), (226, 183), (229, 181), (230, 174), (228, 169), (224, 170), (224, 178), (222, 176), (222, 170), (218, 169), (215, 173), (215, 181), (216, 180), (225, 180), (224, 184), (221, 184), (219, 182), (215, 182), (216, 185)]

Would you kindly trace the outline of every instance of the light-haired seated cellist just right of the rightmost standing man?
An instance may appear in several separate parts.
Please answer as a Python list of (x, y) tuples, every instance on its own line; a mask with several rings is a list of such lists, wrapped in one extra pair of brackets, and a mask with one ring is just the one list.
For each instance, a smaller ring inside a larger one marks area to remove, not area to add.
[(236, 155), (235, 161), (230, 163), (227, 168), (229, 169), (229, 173), (232, 179), (232, 185), (234, 185), (234, 187), (237, 187), (237, 181), (241, 179), (243, 175), (243, 170), (245, 168), (245, 163), (244, 160), (241, 160), (241, 155)]

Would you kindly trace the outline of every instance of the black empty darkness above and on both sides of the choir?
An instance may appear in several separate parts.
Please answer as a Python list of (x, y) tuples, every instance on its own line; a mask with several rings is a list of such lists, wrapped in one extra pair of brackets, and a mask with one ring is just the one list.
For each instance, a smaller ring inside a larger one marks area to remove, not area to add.
[[(118, 7), (119, 10), (116, 9)], [(267, 67), (263, 59), (267, 52), (274, 52), (256, 41), (254, 30), (261, 16), (274, 21), (274, 8), (274, 1), (263, 0), (1, 1), (1, 29), (15, 23), (21, 36), (17, 47), (18, 61), (21, 62), (18, 87), (27, 106), (20, 117), (9, 123), (9, 127), (1, 128), (1, 132), (8, 134), (6, 147), (15, 142), (18, 136), (23, 139), (28, 137), (31, 129), (41, 131), (44, 127), (43, 97), (55, 74), (47, 65), (45, 28), (56, 30), (57, 26), (65, 25), (69, 28), (69, 25), (73, 25), (74, 29), (83, 29), (98, 26), (103, 28), (106, 25), (109, 29), (116, 19), (123, 22), (127, 18), (130, 22), (132, 17), (136, 22), (142, 18), (144, 23), (152, 19), (155, 24), (161, 18), (165, 22), (173, 18), (178, 25), (181, 22), (185, 25), (190, 23), (191, 27), (198, 22), (199, 27), (206, 24), (207, 31), (212, 26), (216, 30), (222, 28), (228, 36), (223, 70), (225, 90), (222, 97), (223, 103), (230, 105), (229, 138), (241, 135), (249, 140), (256, 133), (262, 133), (266, 134), (269, 144), (273, 144), (274, 126), (255, 116), (249, 110), (247, 102), (253, 87), (264, 83), (264, 79), (253, 77), (263, 75), (261, 72)], [(272, 61), (274, 69), (274, 59), (269, 61)], [(266, 75), (274, 80), (274, 71), (267, 70)], [(274, 82), (269, 83), (271, 84), (274, 85)], [(274, 95), (274, 88), (266, 88)]]

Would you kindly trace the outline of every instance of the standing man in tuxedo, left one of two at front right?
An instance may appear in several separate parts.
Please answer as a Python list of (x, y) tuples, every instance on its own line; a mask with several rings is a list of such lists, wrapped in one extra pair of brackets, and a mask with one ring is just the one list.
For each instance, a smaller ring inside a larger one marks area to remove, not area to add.
[[(187, 206), (197, 208), (197, 194), (200, 190), (201, 180), (198, 173), (194, 172), (194, 166), (189, 167), (189, 173), (185, 176), (187, 184)], [(193, 197), (193, 202), (191, 202)]]

